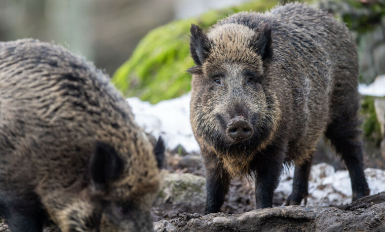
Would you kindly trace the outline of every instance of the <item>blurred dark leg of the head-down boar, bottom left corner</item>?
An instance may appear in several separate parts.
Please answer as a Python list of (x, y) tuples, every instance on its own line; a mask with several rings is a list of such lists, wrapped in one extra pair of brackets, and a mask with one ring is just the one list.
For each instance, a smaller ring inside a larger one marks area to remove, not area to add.
[(12, 232), (41, 232), (45, 218), (42, 206), (34, 200), (15, 199), (8, 203), (4, 217)]

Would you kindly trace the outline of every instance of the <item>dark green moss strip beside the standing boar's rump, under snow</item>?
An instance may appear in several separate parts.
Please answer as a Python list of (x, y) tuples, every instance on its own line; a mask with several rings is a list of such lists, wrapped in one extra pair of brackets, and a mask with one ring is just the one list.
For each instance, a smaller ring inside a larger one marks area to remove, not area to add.
[(364, 117), (362, 127), (365, 139), (375, 142), (376, 145), (380, 145), (382, 140), (381, 126), (377, 120), (374, 108), (375, 99), (376, 97), (373, 96), (363, 96), (361, 99), (361, 115)]

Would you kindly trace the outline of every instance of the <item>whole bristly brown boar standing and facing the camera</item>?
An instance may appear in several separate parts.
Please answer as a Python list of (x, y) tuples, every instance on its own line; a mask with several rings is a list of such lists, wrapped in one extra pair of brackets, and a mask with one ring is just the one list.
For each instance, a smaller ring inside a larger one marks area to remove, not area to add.
[(257, 208), (271, 207), (282, 164), (295, 164), (286, 204), (308, 195), (325, 135), (350, 173), (352, 200), (369, 194), (362, 164), (354, 40), (331, 15), (300, 3), (241, 12), (205, 34), (191, 27), (191, 124), (204, 158), (206, 213), (232, 177), (255, 175)]

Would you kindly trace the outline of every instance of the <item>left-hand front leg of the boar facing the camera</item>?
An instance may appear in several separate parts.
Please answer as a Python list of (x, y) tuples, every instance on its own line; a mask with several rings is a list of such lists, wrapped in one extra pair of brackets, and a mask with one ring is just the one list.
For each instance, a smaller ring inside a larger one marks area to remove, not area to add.
[(222, 162), (218, 160), (206, 160), (205, 168), (207, 190), (205, 214), (218, 213), (229, 191), (230, 176)]

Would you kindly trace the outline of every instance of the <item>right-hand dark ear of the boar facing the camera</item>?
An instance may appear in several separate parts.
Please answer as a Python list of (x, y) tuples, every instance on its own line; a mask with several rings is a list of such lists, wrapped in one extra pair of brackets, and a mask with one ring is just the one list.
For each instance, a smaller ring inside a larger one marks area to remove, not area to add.
[(264, 25), (254, 34), (254, 37), (251, 41), (251, 46), (255, 52), (261, 55), (263, 61), (267, 61), (269, 58), (271, 58), (271, 27), (269, 25)]

